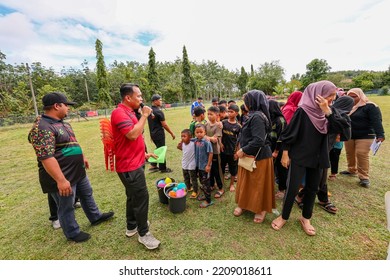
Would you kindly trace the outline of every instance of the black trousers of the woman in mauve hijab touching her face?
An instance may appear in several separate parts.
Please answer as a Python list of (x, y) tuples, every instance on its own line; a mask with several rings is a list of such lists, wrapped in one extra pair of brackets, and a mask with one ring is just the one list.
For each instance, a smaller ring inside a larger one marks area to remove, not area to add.
[(314, 201), (320, 183), (321, 168), (309, 168), (295, 164), (291, 160), (290, 168), (287, 176), (287, 192), (284, 196), (282, 218), (288, 220), (290, 218), (292, 207), (294, 206), (295, 196), (298, 194), (299, 185), (306, 174), (305, 196), (303, 197), (302, 216), (310, 219), (313, 214)]

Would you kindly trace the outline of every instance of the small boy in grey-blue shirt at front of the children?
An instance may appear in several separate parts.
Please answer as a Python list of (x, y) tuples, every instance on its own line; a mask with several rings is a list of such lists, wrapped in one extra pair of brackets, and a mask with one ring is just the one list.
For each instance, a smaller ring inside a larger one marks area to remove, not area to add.
[(210, 169), (213, 161), (213, 147), (210, 141), (206, 140), (206, 127), (203, 124), (195, 126), (195, 139), (191, 139), (195, 143), (195, 161), (196, 169), (203, 191), (203, 197), (198, 196), (198, 200), (204, 200), (199, 205), (200, 208), (206, 208), (213, 205), (211, 201), (211, 186), (210, 186)]

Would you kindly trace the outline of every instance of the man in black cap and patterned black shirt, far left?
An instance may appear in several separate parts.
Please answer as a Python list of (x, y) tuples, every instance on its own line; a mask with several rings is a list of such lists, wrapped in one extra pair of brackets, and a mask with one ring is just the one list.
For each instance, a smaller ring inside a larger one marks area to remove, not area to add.
[(92, 195), (92, 187), (85, 169), (88, 161), (70, 124), (63, 121), (74, 102), (62, 93), (52, 92), (42, 98), (44, 113), (36, 118), (28, 140), (32, 144), (39, 168), (39, 182), (44, 193), (49, 193), (57, 204), (58, 218), (66, 238), (83, 242), (90, 238), (80, 231), (75, 219), (74, 201), (77, 195), (92, 225), (110, 219), (114, 212), (101, 213)]

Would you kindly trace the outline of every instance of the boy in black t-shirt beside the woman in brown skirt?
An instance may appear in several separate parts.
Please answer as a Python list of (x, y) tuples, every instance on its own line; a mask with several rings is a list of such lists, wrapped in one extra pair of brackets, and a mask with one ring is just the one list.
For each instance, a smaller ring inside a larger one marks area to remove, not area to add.
[(237, 105), (230, 105), (228, 109), (229, 119), (222, 121), (222, 146), (221, 146), (221, 167), (225, 169), (226, 164), (230, 172), (230, 187), (231, 192), (235, 191), (234, 181), (237, 176), (238, 160), (235, 159), (237, 138), (241, 131), (241, 125), (237, 122), (239, 108)]

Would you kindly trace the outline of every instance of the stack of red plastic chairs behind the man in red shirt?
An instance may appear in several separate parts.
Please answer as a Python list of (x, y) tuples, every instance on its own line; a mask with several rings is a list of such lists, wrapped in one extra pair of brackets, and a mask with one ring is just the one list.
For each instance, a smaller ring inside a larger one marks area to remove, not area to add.
[(104, 146), (106, 170), (108, 170), (108, 166), (110, 166), (110, 170), (115, 171), (115, 146), (109, 119), (100, 120), (100, 133)]

